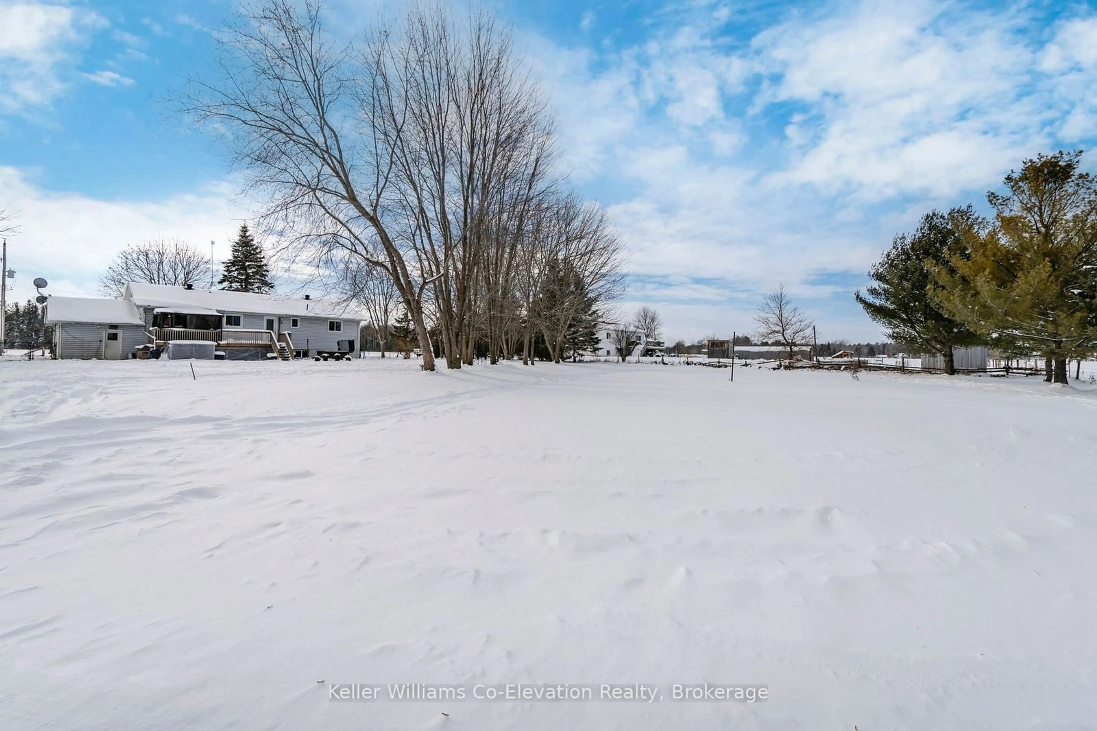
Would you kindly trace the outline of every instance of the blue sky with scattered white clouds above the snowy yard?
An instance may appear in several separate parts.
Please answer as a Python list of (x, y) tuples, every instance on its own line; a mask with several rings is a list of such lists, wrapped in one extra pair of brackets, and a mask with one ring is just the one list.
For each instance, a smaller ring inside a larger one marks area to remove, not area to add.
[[(397, 2), (336, 0), (340, 29)], [(0, 0), (0, 209), (14, 294), (93, 293), (127, 244), (228, 250), (252, 214), (216, 140), (171, 114), (234, 0)], [(457, 3), (457, 7), (464, 7)], [(1097, 139), (1093, 2), (491, 4), (557, 112), (562, 165), (627, 249), (623, 310), (749, 331), (783, 282), (824, 339), (891, 237), (1022, 158)], [(1086, 166), (1097, 167), (1097, 154)]]

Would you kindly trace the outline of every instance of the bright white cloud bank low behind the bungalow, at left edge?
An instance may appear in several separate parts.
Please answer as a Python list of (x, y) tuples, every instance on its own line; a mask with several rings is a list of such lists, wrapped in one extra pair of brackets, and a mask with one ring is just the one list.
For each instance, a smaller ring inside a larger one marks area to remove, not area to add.
[[(108, 201), (45, 191), (21, 170), (0, 166), (0, 201), (20, 226), (8, 246), (20, 272), (14, 296), (33, 295), (35, 277), (48, 279), (55, 294), (93, 294), (114, 255), (148, 238), (179, 237), (201, 251), (211, 240), (224, 245), (249, 215), (234, 201), (235, 191), (216, 182), (161, 201)], [(227, 251), (224, 246), (222, 254)]]

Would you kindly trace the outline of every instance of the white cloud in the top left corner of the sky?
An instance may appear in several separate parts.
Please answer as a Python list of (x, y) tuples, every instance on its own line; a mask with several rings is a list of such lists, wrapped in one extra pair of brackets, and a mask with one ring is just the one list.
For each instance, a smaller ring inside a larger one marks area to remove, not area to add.
[(0, 111), (45, 104), (60, 93), (60, 67), (102, 25), (81, 8), (0, 0)]

